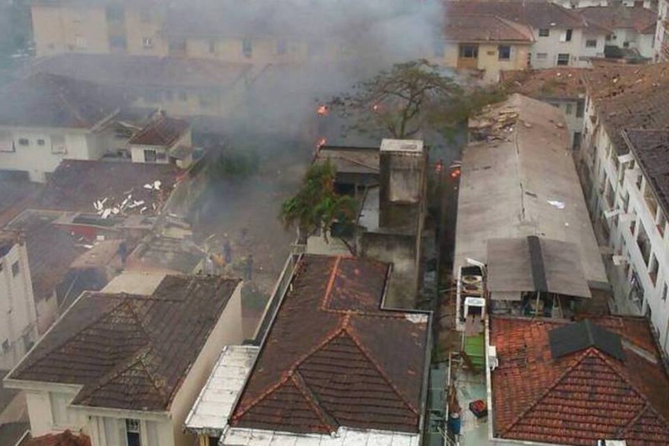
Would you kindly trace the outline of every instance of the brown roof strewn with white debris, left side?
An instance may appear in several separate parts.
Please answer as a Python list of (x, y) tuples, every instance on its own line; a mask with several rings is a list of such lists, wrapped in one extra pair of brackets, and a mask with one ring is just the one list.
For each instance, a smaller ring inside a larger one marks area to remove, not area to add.
[[(183, 171), (172, 164), (139, 162), (64, 160), (47, 182), (38, 206), (51, 210), (95, 212), (93, 203), (107, 198), (105, 207), (120, 206), (132, 194), (133, 201), (144, 201), (125, 213), (144, 215), (155, 212), (169, 197)], [(160, 181), (160, 190), (144, 187)]]

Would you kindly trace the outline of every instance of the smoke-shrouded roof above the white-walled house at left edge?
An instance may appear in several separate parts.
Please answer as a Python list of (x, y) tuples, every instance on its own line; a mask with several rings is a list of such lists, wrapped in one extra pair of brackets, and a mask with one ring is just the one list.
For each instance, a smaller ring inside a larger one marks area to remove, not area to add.
[(5, 86), (0, 103), (0, 125), (91, 128), (123, 107), (125, 99), (109, 87), (37, 73)]

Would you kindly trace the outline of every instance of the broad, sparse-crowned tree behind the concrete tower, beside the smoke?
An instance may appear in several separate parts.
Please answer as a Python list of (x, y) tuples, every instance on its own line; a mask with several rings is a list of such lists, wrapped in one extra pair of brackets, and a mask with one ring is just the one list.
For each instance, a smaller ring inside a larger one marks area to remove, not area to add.
[(355, 84), (351, 93), (335, 96), (328, 105), (341, 117), (350, 118), (351, 130), (381, 128), (403, 139), (422, 130), (433, 105), (458, 95), (460, 87), (438, 66), (417, 60), (397, 63)]

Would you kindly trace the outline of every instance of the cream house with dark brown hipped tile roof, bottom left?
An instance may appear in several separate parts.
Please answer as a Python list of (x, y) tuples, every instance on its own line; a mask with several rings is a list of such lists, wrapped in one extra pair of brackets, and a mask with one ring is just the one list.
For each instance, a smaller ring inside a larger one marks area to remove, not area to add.
[(240, 280), (125, 273), (82, 293), (4, 380), (31, 433), (93, 446), (192, 446), (188, 411), (221, 349), (243, 341)]

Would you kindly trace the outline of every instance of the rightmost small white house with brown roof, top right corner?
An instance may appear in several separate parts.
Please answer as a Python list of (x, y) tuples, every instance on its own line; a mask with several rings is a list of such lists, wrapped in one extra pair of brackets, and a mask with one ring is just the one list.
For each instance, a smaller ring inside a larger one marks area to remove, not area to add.
[(653, 58), (657, 24), (657, 13), (654, 10), (640, 6), (592, 6), (580, 8), (576, 12), (588, 23), (610, 30), (606, 36), (606, 56), (615, 57), (616, 53), (620, 53), (626, 59), (635, 56)]

